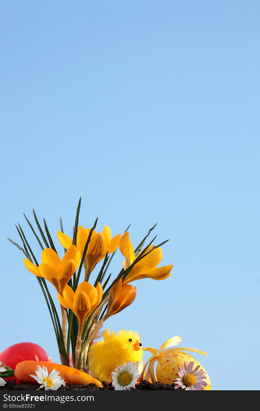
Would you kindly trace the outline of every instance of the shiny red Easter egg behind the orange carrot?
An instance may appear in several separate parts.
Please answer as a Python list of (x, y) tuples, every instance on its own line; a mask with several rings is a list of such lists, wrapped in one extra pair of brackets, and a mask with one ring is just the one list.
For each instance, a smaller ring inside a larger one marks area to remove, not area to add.
[(25, 360), (49, 361), (49, 358), (46, 351), (33, 342), (19, 342), (0, 353), (0, 361), (12, 369), (15, 369), (16, 364)]

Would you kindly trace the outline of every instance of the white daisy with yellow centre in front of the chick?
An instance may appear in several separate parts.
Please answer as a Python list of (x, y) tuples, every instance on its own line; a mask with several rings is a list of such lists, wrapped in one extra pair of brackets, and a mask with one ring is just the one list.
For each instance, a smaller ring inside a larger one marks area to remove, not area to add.
[(138, 362), (118, 365), (112, 375), (112, 386), (115, 390), (129, 390), (129, 388), (136, 388), (137, 380), (141, 376), (138, 372)]

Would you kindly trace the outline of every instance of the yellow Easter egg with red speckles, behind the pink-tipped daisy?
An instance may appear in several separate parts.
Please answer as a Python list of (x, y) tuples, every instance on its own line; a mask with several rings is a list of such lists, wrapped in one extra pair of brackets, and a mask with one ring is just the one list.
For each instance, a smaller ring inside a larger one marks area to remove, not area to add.
[(209, 376), (204, 367), (190, 354), (184, 353), (183, 351), (175, 351), (174, 353), (168, 353), (165, 357), (161, 358), (156, 367), (156, 379), (161, 383), (171, 384), (175, 378), (179, 378), (178, 367), (181, 367), (186, 361), (188, 364), (190, 361), (194, 362), (193, 369), (200, 365), (200, 368), (203, 369), (207, 378), (205, 379), (207, 386), (204, 390), (211, 390), (211, 383)]

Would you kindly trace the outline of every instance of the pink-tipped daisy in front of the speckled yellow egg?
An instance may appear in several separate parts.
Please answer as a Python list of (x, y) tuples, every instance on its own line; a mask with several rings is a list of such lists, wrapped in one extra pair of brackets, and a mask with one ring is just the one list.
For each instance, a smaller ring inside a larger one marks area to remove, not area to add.
[(193, 391), (202, 391), (207, 386), (205, 380), (206, 374), (203, 369), (200, 369), (200, 365), (197, 365), (193, 369), (194, 362), (190, 361), (187, 365), (186, 362), (182, 367), (178, 367), (179, 378), (176, 378), (173, 382), (175, 383), (175, 390), (193, 390)]

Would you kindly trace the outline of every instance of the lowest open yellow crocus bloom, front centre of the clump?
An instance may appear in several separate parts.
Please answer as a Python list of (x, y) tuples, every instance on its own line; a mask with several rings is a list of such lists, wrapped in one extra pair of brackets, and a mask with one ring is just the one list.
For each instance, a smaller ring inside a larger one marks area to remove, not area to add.
[(78, 285), (75, 293), (70, 286), (65, 286), (63, 297), (58, 293), (60, 304), (71, 309), (78, 319), (79, 327), (83, 326), (87, 318), (99, 305), (103, 296), (103, 288), (98, 282), (97, 287), (92, 287), (89, 282), (83, 281)]

